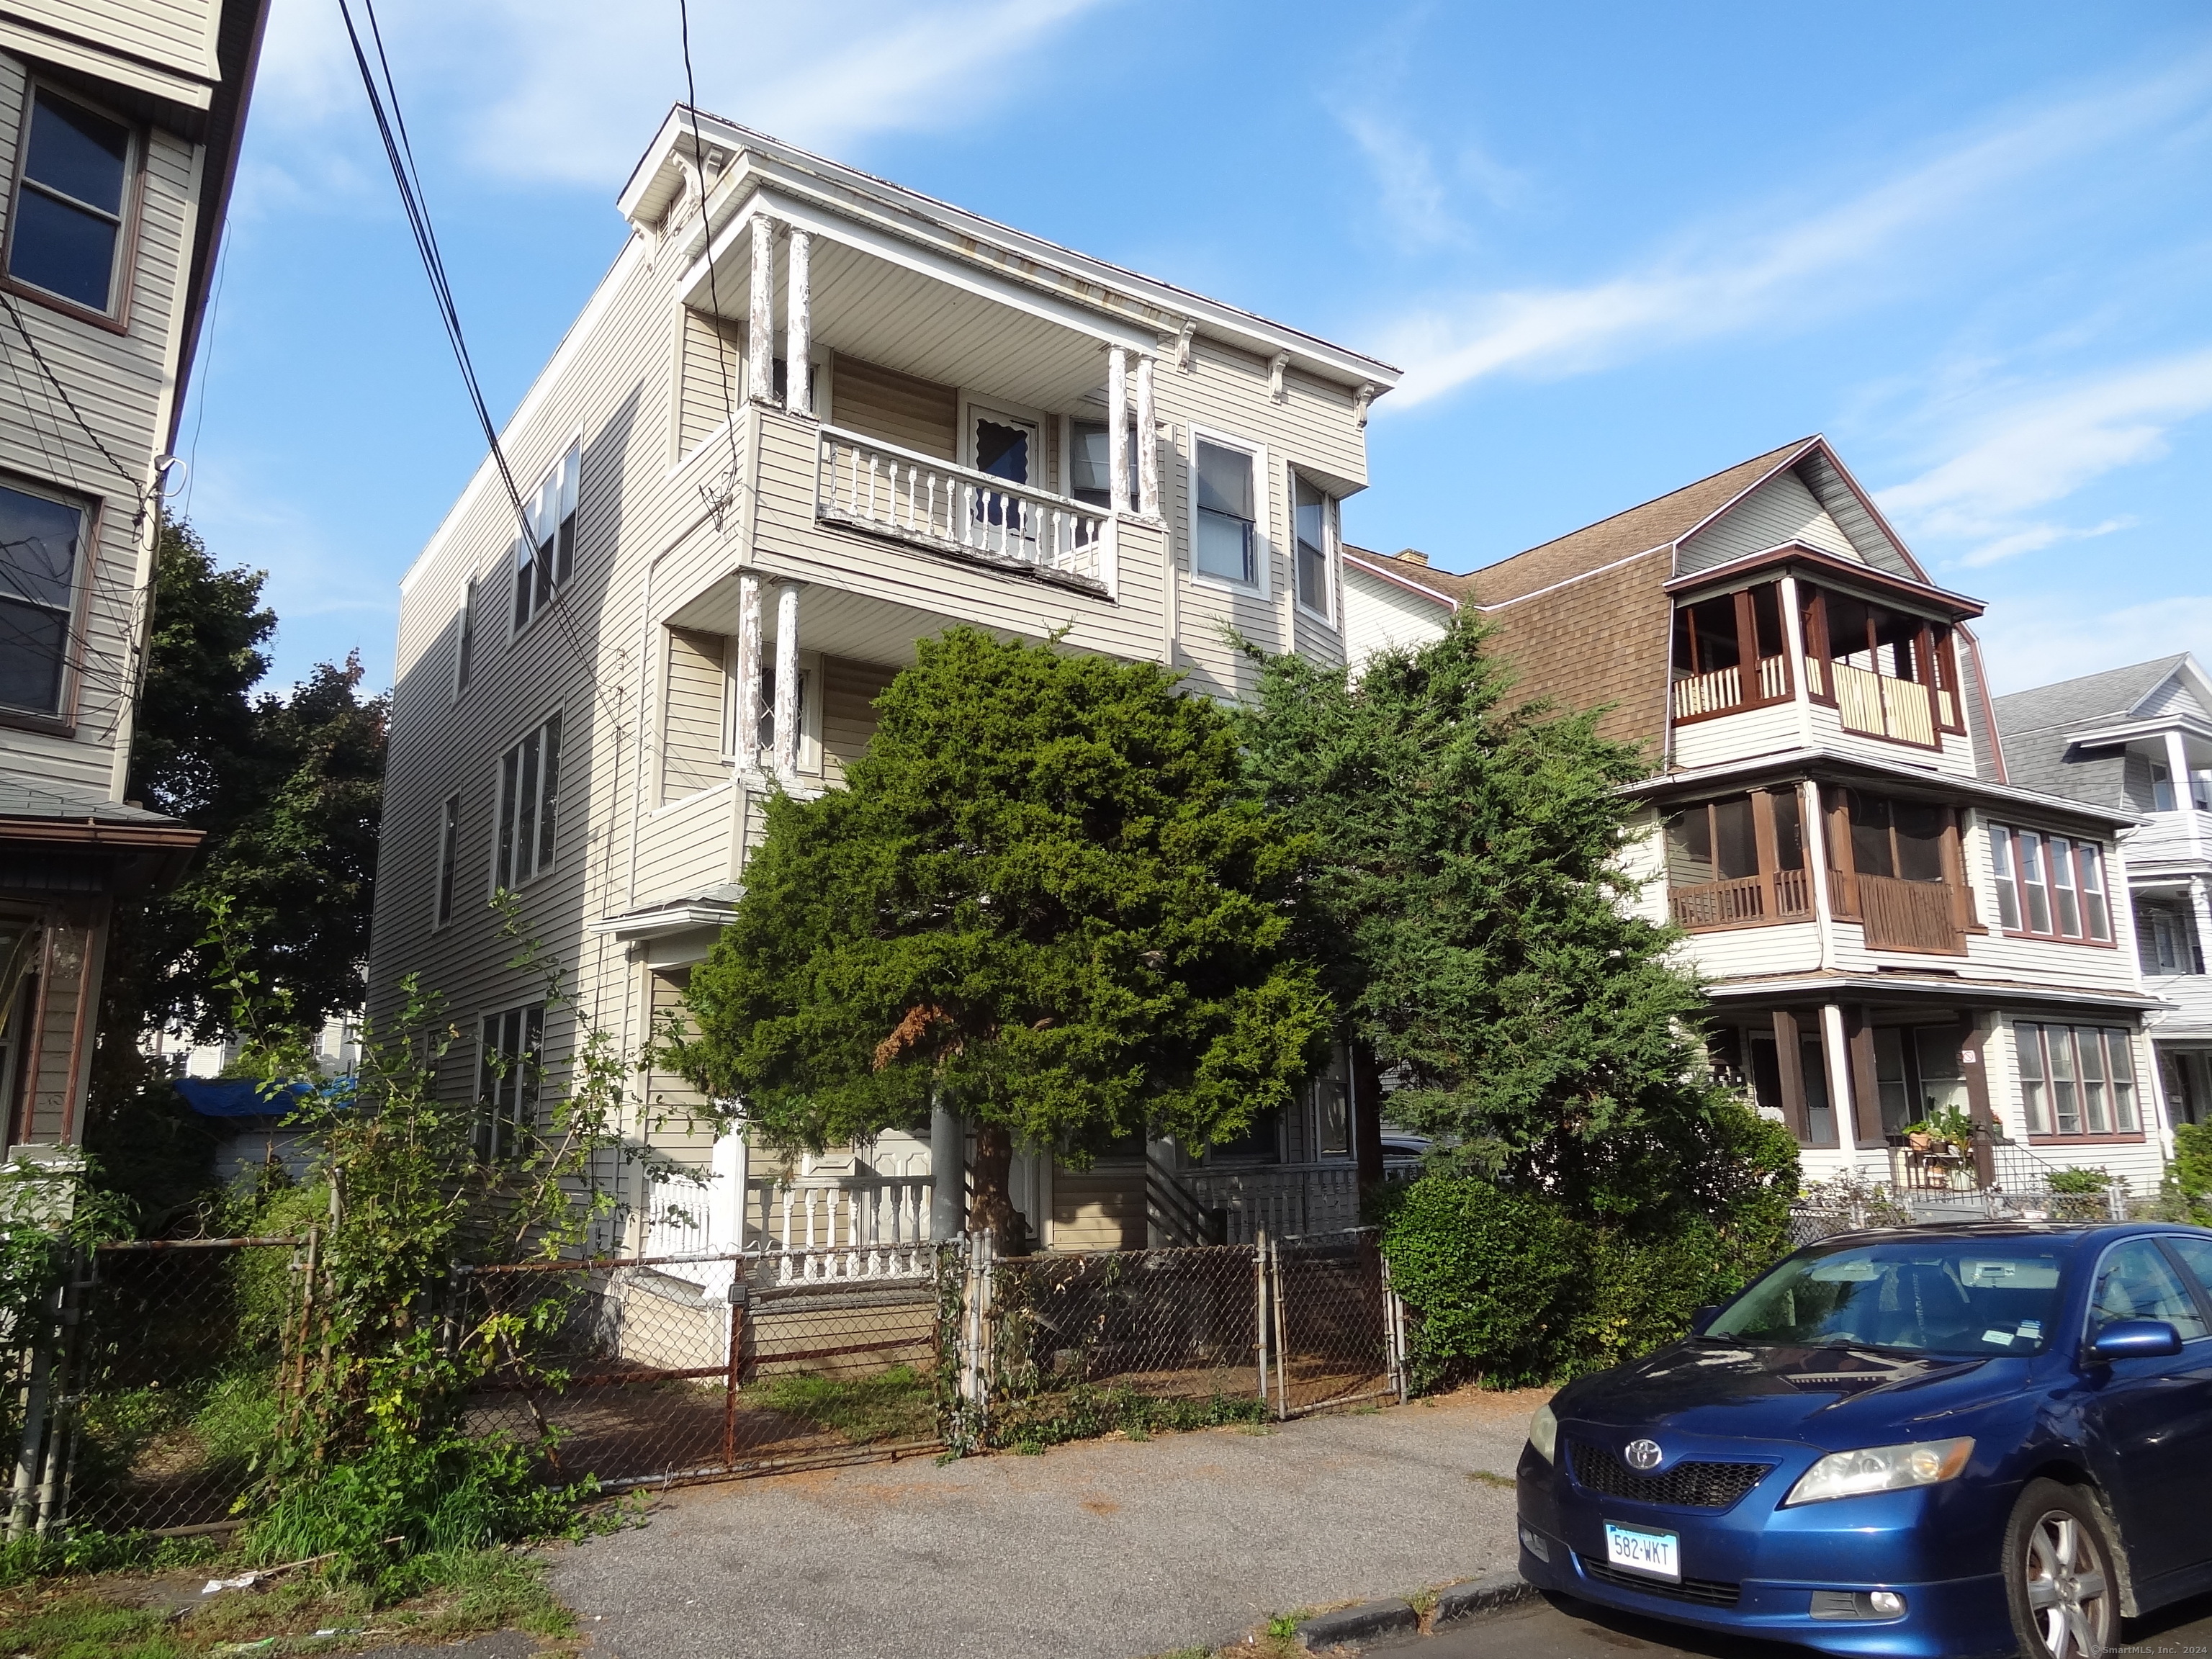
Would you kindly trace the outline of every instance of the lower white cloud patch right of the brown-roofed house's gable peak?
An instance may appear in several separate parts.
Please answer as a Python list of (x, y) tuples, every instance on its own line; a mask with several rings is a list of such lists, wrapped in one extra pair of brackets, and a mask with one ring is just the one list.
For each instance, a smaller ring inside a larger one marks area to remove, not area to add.
[(2042, 509), (2115, 469), (2163, 458), (2168, 434), (2205, 409), (2212, 349), (2015, 398), (1973, 422), (1947, 460), (1880, 491), (1882, 511), (1920, 542), (1962, 549), (1966, 566), (2108, 535), (2132, 520), (2077, 526)]

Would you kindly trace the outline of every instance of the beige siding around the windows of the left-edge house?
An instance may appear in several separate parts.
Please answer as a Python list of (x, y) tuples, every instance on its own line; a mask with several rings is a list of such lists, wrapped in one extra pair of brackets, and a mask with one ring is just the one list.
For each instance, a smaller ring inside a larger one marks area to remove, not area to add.
[[(0, 55), (0, 157), (13, 166), (22, 137), (24, 64)], [(175, 305), (192, 234), (192, 146), (153, 128), (137, 186), (137, 234), (128, 250), (128, 332), (115, 334), (18, 296), (15, 312), (40, 356), (69, 387), (77, 425), (22, 338), (7, 327), (15, 396), (0, 403), (0, 471), (80, 495), (95, 509), (88, 586), (75, 617), (84, 639), (69, 737), (0, 728), (0, 776), (62, 794), (108, 799), (128, 717), (128, 684), (142, 622), (139, 560), (150, 526), (139, 520), (153, 453), (168, 422)], [(7, 199), (0, 197), (0, 215)], [(97, 434), (97, 440), (95, 436)], [(106, 449), (106, 453), (102, 453)], [(128, 471), (117, 471), (115, 456)]]

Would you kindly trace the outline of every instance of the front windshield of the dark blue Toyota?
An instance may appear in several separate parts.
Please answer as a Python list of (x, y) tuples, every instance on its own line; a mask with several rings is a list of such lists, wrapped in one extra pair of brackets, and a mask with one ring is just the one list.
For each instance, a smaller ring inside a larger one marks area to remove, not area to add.
[(1922, 1354), (2039, 1354), (2059, 1312), (2057, 1245), (1920, 1239), (1792, 1256), (1705, 1327), (1708, 1338)]

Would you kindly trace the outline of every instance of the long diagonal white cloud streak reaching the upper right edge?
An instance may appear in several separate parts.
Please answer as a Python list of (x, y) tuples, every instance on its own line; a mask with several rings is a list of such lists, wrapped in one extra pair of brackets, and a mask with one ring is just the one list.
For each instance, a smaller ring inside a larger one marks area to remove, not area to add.
[(1980, 234), (2006, 188), (2150, 128), (2190, 122), (2212, 58), (2015, 117), (1781, 228), (1694, 230), (1644, 265), (1577, 288), (1469, 294), (1400, 316), (1383, 356), (1409, 365), (1394, 414), (1517, 369), (1575, 374), (1639, 352), (1863, 303)]

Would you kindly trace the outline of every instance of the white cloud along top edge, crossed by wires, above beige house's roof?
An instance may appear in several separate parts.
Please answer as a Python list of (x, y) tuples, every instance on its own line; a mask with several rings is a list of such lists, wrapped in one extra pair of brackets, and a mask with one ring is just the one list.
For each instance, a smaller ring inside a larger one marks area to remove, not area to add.
[[(1110, 0), (695, 4), (699, 106), (825, 150), (958, 126), (1035, 95), (1022, 60), (1102, 4)], [(385, 0), (378, 15), (418, 142), (425, 126), (451, 133), (471, 166), (504, 179), (619, 184), (684, 97), (672, 4)], [(257, 119), (314, 139), (358, 111), (336, 7), (276, 0)]]

